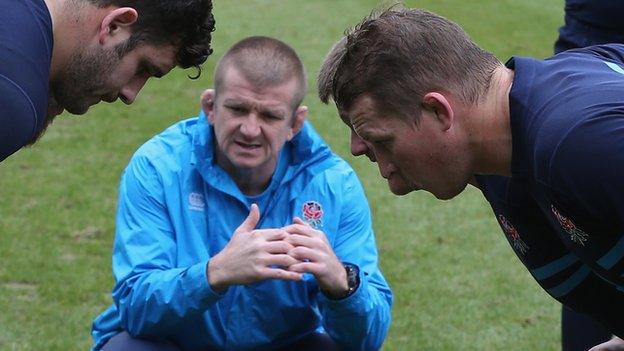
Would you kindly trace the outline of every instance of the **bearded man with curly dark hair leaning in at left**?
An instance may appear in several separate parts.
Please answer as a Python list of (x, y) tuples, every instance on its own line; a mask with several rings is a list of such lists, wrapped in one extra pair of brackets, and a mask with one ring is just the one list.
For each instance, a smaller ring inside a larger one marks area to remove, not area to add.
[(211, 0), (0, 0), (0, 161), (55, 116), (130, 104), (147, 79), (212, 53)]

